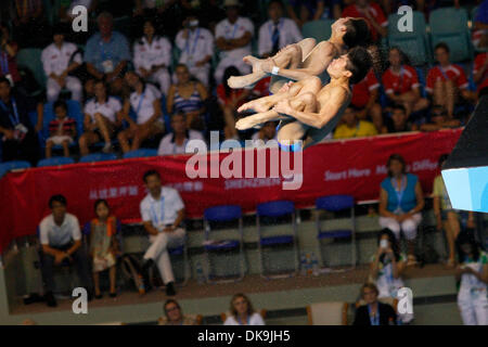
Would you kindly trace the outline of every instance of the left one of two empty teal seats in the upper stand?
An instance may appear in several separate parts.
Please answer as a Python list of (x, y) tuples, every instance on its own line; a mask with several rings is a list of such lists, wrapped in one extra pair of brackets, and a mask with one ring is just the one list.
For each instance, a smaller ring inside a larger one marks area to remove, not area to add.
[(413, 31), (400, 31), (398, 21), (403, 15), (388, 16), (388, 46), (398, 47), (409, 55), (412, 65), (423, 65), (431, 61), (428, 38), (424, 14), (413, 11)]

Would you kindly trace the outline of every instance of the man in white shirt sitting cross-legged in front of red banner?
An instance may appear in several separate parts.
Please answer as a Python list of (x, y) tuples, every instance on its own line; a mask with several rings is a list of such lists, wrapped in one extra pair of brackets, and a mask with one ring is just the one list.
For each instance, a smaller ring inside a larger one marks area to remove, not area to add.
[(175, 275), (168, 248), (178, 247), (184, 242), (185, 231), (180, 226), (184, 218), (184, 204), (177, 190), (162, 185), (156, 170), (146, 171), (143, 179), (149, 194), (141, 202), (141, 217), (151, 242), (142, 266), (144, 285), (146, 291), (151, 290), (147, 271), (156, 264), (166, 285), (166, 295), (174, 296)]

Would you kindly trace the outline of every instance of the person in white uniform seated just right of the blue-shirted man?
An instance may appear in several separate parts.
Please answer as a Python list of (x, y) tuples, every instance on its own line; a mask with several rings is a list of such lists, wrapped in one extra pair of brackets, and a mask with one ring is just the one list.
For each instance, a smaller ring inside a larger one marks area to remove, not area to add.
[(168, 67), (171, 63), (171, 43), (155, 35), (154, 22), (144, 22), (144, 36), (133, 44), (133, 65), (144, 80), (158, 83), (163, 94), (168, 93), (170, 78)]

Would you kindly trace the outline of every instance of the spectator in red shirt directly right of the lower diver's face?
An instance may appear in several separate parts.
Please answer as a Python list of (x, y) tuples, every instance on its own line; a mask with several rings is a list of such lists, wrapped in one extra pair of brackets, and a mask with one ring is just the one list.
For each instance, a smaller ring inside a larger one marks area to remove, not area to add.
[(382, 106), (377, 103), (378, 88), (380, 82), (374, 76), (373, 69), (371, 69), (363, 80), (351, 86), (352, 99), (350, 104), (358, 110), (357, 116), (359, 119), (364, 120), (369, 116), (377, 132), (382, 133), (383, 116)]

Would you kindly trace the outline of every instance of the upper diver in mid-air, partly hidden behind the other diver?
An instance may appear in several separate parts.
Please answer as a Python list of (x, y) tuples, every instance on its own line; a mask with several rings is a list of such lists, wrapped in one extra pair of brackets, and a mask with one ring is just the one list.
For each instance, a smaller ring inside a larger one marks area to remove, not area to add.
[(266, 60), (245, 56), (243, 60), (253, 65), (253, 73), (230, 77), (229, 87), (252, 87), (271, 74), (270, 91), (277, 93), (290, 80), (321, 76), (333, 59), (347, 53), (349, 49), (369, 42), (370, 30), (362, 18), (339, 18), (332, 24), (331, 29), (331, 37), (326, 41), (317, 43), (314, 39), (306, 38), (284, 47), (274, 56)]

